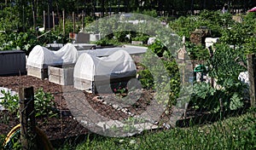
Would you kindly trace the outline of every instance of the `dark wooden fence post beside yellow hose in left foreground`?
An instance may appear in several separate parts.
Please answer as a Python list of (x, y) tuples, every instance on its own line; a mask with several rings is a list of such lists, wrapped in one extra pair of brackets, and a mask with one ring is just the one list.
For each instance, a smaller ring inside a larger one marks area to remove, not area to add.
[(34, 90), (19, 89), (20, 98), (20, 141), (22, 149), (37, 149), (34, 112)]

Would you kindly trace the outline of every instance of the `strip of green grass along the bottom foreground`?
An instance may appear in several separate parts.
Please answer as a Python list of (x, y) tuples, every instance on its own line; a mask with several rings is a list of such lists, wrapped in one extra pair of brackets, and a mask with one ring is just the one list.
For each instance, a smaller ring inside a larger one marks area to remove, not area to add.
[(111, 138), (88, 135), (77, 146), (61, 149), (256, 149), (255, 112), (227, 118), (213, 124), (147, 131), (136, 137)]

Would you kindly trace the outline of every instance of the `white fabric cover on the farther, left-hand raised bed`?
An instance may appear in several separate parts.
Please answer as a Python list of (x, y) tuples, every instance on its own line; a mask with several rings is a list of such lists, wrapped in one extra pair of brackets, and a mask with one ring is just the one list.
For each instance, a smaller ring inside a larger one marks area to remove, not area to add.
[(47, 66), (75, 63), (79, 58), (78, 50), (67, 43), (57, 51), (51, 51), (40, 45), (35, 46), (28, 55), (26, 66), (44, 68)]

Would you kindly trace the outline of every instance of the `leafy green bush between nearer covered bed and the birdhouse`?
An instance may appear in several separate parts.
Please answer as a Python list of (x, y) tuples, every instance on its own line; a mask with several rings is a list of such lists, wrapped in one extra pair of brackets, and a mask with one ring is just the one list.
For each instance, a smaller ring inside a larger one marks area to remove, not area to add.
[(148, 47), (150, 51), (143, 55), (140, 65), (143, 70), (138, 72), (143, 88), (155, 89), (155, 98), (160, 103), (171, 107), (176, 104), (180, 90), (180, 76), (175, 59), (169, 55), (163, 43), (156, 41)]

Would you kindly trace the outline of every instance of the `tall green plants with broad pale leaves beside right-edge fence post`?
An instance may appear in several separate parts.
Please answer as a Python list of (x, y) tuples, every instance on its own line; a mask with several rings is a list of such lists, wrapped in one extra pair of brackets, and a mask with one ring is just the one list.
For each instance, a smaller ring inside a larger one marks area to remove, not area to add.
[(243, 97), (247, 89), (238, 79), (239, 73), (247, 68), (245, 64), (244, 49), (231, 49), (224, 43), (215, 45), (215, 52), (207, 61), (209, 76), (217, 80), (218, 87), (211, 84), (195, 83), (192, 96), (193, 107), (204, 109), (212, 113), (220, 110), (222, 102), (224, 110), (236, 110), (243, 107)]

